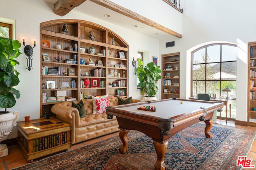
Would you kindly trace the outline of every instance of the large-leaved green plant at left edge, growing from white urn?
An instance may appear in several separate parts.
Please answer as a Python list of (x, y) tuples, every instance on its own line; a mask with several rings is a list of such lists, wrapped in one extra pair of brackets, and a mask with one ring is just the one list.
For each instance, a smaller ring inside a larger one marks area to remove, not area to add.
[(17, 40), (0, 37), (0, 107), (11, 108), (16, 104), (16, 98), (20, 98), (20, 92), (14, 88), (20, 82), (19, 73), (14, 66), (19, 64), (15, 59), (22, 53), (21, 44)]

